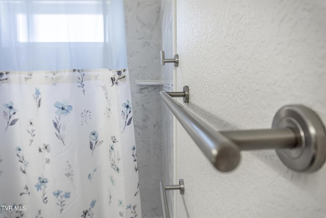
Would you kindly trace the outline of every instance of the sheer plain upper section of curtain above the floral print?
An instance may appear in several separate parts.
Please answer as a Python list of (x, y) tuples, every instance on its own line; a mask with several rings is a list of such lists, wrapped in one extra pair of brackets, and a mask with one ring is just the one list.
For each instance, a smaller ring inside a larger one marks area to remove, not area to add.
[(123, 1), (0, 0), (0, 70), (127, 67)]

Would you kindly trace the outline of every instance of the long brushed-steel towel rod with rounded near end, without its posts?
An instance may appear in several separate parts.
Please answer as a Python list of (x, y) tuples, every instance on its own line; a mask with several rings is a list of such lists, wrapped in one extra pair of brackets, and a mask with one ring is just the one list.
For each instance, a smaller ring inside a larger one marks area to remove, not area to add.
[(166, 92), (161, 91), (160, 95), (183, 128), (198, 144), (199, 148), (216, 169), (222, 172), (229, 172), (239, 164), (240, 150), (234, 142), (223, 134), (216, 132), (198, 115), (187, 110)]

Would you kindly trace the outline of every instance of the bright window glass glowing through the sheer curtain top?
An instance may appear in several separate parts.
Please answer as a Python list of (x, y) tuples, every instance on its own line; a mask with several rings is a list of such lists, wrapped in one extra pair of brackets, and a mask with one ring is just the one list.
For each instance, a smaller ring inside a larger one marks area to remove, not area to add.
[[(17, 15), (19, 42), (103, 42), (103, 16), (96, 14)], [(30, 32), (28, 31), (30, 29)], [(29, 37), (30, 34), (30, 37)]]

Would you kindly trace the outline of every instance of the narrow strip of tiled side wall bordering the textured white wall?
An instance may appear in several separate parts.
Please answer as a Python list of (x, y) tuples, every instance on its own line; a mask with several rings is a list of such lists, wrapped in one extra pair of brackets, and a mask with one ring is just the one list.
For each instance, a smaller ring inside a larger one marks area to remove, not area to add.
[[(162, 50), (165, 51), (166, 58), (173, 58), (173, 0), (162, 0), (161, 2), (161, 30), (162, 30)], [(173, 69), (174, 64), (166, 64), (162, 67), (162, 78), (164, 79), (164, 90), (173, 91)], [(177, 90), (176, 90), (177, 91)], [(174, 181), (174, 146), (173, 146), (173, 114), (170, 109), (162, 103), (162, 171), (164, 184), (177, 184)], [(177, 192), (176, 192), (177, 193)], [(173, 214), (173, 197), (175, 192), (167, 193), (170, 215)]]

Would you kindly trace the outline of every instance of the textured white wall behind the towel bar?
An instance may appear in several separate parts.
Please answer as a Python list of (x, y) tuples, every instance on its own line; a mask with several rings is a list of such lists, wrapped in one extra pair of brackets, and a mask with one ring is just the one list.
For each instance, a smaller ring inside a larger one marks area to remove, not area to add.
[[(178, 0), (177, 89), (216, 129), (269, 128), (304, 104), (326, 124), (326, 1)], [(326, 217), (326, 166), (298, 174), (275, 151), (242, 152), (222, 174), (177, 126), (176, 217)]]

